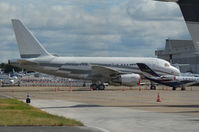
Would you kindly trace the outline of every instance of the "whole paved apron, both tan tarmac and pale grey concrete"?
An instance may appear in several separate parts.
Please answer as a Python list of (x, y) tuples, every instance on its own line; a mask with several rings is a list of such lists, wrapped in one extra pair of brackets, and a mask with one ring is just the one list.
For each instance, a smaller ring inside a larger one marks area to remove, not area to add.
[[(199, 87), (172, 91), (159, 86), (107, 87), (105, 91), (69, 87), (3, 87), (0, 95), (20, 100), (31, 96), (31, 105), (74, 118), (101, 131), (198, 132)], [(160, 93), (161, 102), (156, 102)]]

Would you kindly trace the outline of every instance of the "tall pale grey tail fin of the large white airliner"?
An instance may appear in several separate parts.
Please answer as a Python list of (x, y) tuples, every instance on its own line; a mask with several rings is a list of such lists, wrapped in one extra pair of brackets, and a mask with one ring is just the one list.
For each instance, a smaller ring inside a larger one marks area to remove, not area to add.
[(12, 24), (21, 58), (50, 55), (20, 20), (13, 19)]

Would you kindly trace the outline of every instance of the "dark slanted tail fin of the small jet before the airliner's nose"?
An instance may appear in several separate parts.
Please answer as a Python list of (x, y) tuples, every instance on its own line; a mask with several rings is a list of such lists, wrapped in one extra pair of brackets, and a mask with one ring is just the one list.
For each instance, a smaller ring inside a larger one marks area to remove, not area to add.
[(149, 68), (146, 64), (144, 63), (136, 63), (139, 69), (143, 72), (144, 76), (155, 76), (155, 77), (160, 77), (156, 72), (154, 72), (151, 68)]

